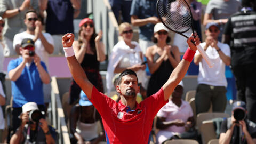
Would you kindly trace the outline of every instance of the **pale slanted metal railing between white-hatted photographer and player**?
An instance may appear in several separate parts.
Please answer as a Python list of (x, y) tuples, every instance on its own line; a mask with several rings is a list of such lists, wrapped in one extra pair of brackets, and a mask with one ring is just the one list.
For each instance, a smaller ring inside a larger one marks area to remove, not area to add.
[(61, 99), (56, 77), (52, 77), (51, 86), (51, 116), (49, 117), (49, 119), (53, 127), (58, 131), (58, 141), (56, 142), (59, 144), (70, 144), (68, 127), (65, 122), (65, 116), (61, 105)]

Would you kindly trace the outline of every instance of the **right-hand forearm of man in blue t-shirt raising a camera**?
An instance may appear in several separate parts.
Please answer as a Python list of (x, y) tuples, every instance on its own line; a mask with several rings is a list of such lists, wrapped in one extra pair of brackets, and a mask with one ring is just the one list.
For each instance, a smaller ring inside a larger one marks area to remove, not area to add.
[(49, 74), (47, 73), (47, 71), (44, 69), (44, 67), (41, 65), (40, 57), (37, 54), (35, 54), (35, 56), (34, 56), (34, 62), (35, 62), (35, 65), (37, 66), (37, 70), (39, 72), (41, 81), (44, 84), (49, 84), (51, 81), (51, 78), (50, 78)]

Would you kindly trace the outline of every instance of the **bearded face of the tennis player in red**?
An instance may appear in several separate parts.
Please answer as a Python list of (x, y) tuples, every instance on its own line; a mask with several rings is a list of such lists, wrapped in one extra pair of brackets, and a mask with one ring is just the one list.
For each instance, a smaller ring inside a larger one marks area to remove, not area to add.
[(125, 75), (116, 86), (116, 91), (126, 98), (134, 98), (139, 92), (138, 79), (135, 75)]

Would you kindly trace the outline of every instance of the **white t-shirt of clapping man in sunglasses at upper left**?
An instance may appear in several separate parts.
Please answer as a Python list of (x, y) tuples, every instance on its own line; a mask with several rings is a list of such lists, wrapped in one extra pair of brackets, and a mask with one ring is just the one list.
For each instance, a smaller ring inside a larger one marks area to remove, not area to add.
[[(42, 33), (43, 36), (45, 37), (46, 41), (52, 45), (54, 45), (53, 38), (49, 33)], [(33, 39), (35, 35), (30, 35), (26, 31), (16, 34), (13, 38), (13, 49), (15, 50), (15, 46), (17, 44), (21, 44), (22, 39), (24, 38), (31, 38)], [(48, 60), (48, 52), (45, 50), (41, 39), (37, 39), (35, 42), (35, 52), (37, 55), (39, 55), (41, 61), (43, 61), (49, 70), (49, 60)]]

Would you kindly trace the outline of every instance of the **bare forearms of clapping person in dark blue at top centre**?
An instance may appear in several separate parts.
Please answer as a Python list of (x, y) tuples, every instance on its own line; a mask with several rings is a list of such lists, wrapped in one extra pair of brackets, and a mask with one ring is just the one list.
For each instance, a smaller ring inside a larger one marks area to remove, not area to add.
[(156, 24), (158, 22), (159, 22), (159, 19), (154, 16), (146, 19), (139, 19), (137, 15), (131, 16), (131, 23), (133, 26), (144, 26), (144, 25), (147, 25), (148, 23)]

